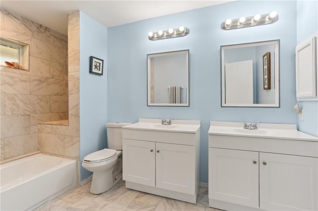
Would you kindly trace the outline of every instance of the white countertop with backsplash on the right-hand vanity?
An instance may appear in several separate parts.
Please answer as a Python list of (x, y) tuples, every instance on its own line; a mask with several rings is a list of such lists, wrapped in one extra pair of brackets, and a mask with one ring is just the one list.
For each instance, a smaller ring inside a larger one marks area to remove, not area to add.
[(210, 123), (209, 135), (242, 136), (268, 139), (288, 139), (318, 142), (318, 137), (297, 130), (293, 124), (257, 123), (258, 129), (243, 129), (243, 122), (213, 122)]

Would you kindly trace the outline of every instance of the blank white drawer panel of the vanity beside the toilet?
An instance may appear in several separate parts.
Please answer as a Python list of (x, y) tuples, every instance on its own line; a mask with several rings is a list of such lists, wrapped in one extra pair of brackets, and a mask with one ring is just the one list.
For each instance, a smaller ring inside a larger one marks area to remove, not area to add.
[(169, 144), (182, 144), (195, 146), (198, 133), (180, 133), (153, 130), (135, 130), (123, 128), (123, 139), (152, 141)]

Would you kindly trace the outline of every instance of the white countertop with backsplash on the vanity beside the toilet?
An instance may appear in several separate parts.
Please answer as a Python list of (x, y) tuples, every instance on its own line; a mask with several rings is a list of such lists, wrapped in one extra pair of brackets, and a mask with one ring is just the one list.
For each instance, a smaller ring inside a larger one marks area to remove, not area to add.
[(140, 118), (139, 122), (123, 126), (123, 129), (153, 130), (179, 133), (197, 133), (200, 129), (198, 120), (171, 120), (171, 125), (162, 125), (161, 119)]

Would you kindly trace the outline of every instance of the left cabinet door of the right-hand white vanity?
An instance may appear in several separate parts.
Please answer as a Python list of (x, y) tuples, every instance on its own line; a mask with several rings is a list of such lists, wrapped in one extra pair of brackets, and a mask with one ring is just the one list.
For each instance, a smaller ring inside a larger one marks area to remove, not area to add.
[(258, 208), (258, 152), (209, 148), (209, 198)]

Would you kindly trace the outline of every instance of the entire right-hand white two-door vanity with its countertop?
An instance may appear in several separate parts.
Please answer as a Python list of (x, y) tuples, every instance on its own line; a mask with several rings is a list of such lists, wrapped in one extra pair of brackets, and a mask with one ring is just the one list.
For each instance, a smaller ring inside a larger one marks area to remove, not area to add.
[(209, 206), (317, 211), (318, 138), (291, 124), (211, 122)]

